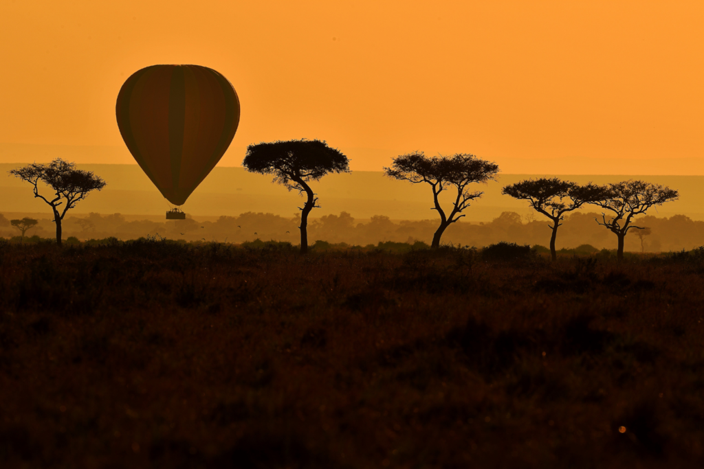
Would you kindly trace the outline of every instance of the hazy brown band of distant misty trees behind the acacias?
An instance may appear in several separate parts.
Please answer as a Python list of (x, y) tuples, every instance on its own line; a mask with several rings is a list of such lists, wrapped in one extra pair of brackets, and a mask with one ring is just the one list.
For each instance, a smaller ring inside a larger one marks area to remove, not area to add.
[[(42, 217), (42, 214), (33, 215), (37, 217), (39, 224), (27, 231), (26, 236), (52, 238), (56, 228), (51, 219), (46, 215)], [(0, 214), (0, 236), (18, 236), (19, 231), (13, 229), (8, 220), (19, 217), (20, 214)], [(77, 240), (109, 237), (129, 240), (158, 236), (174, 240), (227, 243), (260, 239), (286, 241), (295, 245), (300, 241), (298, 217), (287, 218), (270, 213), (246, 212), (239, 217), (193, 217), (175, 221), (138, 218), (98, 213), (68, 216), (63, 223), (63, 233), (65, 238), (73, 236)], [(615, 249), (616, 236), (597, 224), (596, 219), (601, 219), (601, 214), (578, 212), (565, 217), (558, 233), (557, 248), (591, 245), (599, 250)], [(625, 245), (627, 251), (690, 250), (704, 244), (704, 221), (693, 221), (684, 215), (640, 217), (635, 224), (650, 230), (629, 231)], [(371, 219), (355, 219), (351, 214), (341, 212), (338, 215), (331, 214), (313, 219), (308, 226), (308, 232), (311, 244), (318, 240), (348, 245), (376, 245), (386, 241), (411, 244), (422, 241), (429, 244), (437, 226), (438, 221), (435, 219), (394, 221), (384, 215), (375, 215)], [(550, 241), (550, 234), (548, 221), (543, 217), (503, 212), (486, 223), (458, 221), (448, 228), (443, 242), (478, 248), (501, 241), (546, 246)], [(639, 236), (641, 234), (642, 236)]]

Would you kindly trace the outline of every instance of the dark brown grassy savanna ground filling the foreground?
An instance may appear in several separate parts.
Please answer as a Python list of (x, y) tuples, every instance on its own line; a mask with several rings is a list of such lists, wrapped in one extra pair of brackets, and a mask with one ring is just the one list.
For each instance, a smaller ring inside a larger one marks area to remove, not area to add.
[(0, 466), (704, 467), (704, 261), (0, 246)]

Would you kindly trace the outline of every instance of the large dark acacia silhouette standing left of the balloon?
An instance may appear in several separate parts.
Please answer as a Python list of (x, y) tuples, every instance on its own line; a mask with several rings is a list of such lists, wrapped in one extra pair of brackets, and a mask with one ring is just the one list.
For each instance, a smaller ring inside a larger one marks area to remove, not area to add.
[[(41, 198), (51, 206), (56, 223), (56, 244), (61, 245), (61, 221), (66, 212), (87, 197), (91, 191), (100, 191), (105, 187), (105, 181), (92, 171), (75, 169), (75, 164), (61, 158), (42, 165), (32, 163), (23, 168), (8, 171), (23, 181), (34, 186), (34, 197)], [(54, 198), (46, 198), (39, 193), (39, 181), (54, 191)], [(63, 207), (61, 207), (63, 205)]]

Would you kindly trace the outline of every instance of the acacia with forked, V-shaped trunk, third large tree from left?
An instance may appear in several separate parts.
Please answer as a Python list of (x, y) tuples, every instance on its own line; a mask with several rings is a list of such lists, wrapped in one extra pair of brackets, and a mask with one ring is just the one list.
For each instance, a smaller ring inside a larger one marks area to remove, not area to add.
[[(394, 179), (409, 181), (413, 184), (425, 182), (433, 191), (433, 201), (440, 215), (440, 226), (433, 235), (431, 248), (439, 248), (440, 238), (448, 226), (465, 215), (458, 215), (470, 206), (472, 200), (482, 196), (483, 192), (470, 192), (468, 186), (475, 182), (486, 184), (496, 181), (498, 165), (480, 160), (468, 153), (457, 153), (453, 156), (434, 156), (428, 158), (421, 152), (398, 156), (391, 162), (391, 167), (384, 167), (384, 174)], [(457, 190), (449, 216), (440, 206), (439, 195), (450, 187)]]

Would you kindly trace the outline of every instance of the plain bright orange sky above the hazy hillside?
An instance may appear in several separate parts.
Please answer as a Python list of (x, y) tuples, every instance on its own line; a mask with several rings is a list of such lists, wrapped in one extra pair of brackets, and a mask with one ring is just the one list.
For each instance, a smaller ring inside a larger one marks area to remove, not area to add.
[[(122, 82), (193, 63), (237, 89), (233, 148), (306, 137), (582, 173), (699, 158), (704, 174), (700, 0), (0, 3), (0, 143), (122, 146)], [(351, 167), (389, 164), (375, 154)]]

